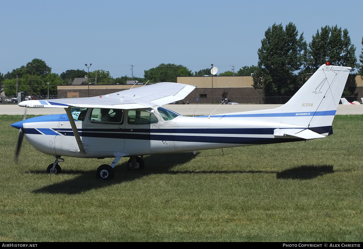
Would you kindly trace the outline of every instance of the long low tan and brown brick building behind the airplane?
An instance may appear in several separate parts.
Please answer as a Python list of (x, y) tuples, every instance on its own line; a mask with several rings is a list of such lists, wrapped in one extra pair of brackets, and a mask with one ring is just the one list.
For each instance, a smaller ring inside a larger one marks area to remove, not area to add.
[[(178, 103), (220, 103), (222, 98), (231, 102), (260, 104), (284, 103), (290, 97), (265, 98), (260, 89), (253, 88), (252, 76), (205, 76), (205, 77), (178, 77), (178, 83), (197, 86), (185, 99)], [(134, 87), (141, 87), (135, 85)], [(93, 97), (130, 89), (132, 85), (69, 85), (57, 86), (58, 98)], [(360, 75), (349, 75), (346, 87), (351, 91), (352, 97), (348, 101), (360, 101), (363, 97), (363, 81)]]

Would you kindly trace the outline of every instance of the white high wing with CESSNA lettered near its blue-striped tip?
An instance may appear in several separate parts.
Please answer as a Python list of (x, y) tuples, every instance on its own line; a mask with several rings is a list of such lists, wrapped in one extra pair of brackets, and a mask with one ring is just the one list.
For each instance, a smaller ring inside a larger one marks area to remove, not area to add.
[(27, 100), (20, 102), (19, 106), (28, 108), (148, 108), (155, 105), (162, 106), (184, 99), (195, 87), (180, 83), (161, 82), (97, 97)]

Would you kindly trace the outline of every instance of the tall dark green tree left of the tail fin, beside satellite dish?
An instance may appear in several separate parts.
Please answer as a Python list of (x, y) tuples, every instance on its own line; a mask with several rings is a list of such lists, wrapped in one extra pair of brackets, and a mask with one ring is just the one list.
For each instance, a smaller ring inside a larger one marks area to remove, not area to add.
[(288, 77), (302, 69), (307, 44), (303, 33), (293, 23), (284, 27), (272, 25), (258, 49), (258, 68), (253, 75), (253, 86), (264, 90), (265, 96), (289, 95), (298, 86), (297, 77)]

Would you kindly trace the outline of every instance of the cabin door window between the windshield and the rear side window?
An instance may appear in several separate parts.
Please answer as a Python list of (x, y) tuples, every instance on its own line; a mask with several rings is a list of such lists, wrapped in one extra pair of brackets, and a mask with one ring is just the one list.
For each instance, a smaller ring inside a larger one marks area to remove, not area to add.
[(90, 121), (94, 123), (123, 123), (123, 110), (109, 108), (94, 108), (90, 115)]

